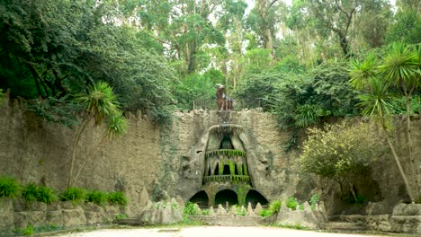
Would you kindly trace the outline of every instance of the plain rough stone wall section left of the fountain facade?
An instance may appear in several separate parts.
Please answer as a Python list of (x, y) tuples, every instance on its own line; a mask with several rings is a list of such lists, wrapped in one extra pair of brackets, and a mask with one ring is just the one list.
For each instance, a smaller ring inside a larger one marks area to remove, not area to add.
[[(0, 108), (0, 174), (22, 183), (45, 183), (55, 189), (67, 187), (76, 129), (47, 123), (22, 110), (24, 101), (4, 99)], [(159, 129), (142, 116), (130, 115), (129, 129), (121, 139), (104, 142), (89, 157), (76, 187), (122, 190), (130, 198), (126, 212), (138, 215), (154, 189), (158, 172)], [(101, 142), (102, 127), (90, 125), (80, 139), (74, 177), (89, 154)]]

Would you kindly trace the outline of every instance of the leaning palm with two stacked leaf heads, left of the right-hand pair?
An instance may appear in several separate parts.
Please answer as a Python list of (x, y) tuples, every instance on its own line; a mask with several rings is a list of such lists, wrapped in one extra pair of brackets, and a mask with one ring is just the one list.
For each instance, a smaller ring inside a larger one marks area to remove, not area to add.
[(363, 108), (362, 115), (377, 118), (390, 147), (390, 151), (398, 165), (409, 198), (411, 198), (412, 202), (415, 202), (415, 196), (409, 185), (407, 175), (402, 168), (395, 146), (390, 139), (389, 122), (391, 118), (391, 105), (388, 101), (390, 101), (393, 95), (388, 90), (389, 84), (383, 81), (377, 73), (377, 60), (375, 57), (369, 56), (363, 62), (352, 61), (350, 75), (352, 77), (351, 83), (354, 87), (365, 91), (365, 93), (359, 96), (361, 100), (359, 106)]

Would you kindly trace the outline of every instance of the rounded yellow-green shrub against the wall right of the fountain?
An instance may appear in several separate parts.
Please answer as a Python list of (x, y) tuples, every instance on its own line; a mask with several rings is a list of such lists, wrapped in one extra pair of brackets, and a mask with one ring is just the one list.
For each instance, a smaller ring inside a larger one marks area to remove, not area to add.
[(383, 145), (369, 136), (369, 131), (368, 124), (352, 126), (345, 121), (324, 129), (309, 128), (300, 155), (301, 168), (336, 180), (363, 171), (384, 152)]

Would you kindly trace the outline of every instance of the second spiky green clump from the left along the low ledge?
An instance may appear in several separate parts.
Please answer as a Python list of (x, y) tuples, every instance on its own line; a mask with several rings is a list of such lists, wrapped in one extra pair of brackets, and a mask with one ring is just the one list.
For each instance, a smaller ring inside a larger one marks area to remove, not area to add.
[(53, 189), (38, 186), (34, 183), (30, 183), (22, 189), (22, 198), (27, 203), (39, 201), (45, 204), (51, 204), (58, 199)]

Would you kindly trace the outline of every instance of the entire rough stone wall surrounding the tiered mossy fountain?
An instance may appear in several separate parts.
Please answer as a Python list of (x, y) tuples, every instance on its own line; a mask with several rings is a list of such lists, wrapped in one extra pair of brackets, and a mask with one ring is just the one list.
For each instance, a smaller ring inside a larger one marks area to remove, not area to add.
[[(23, 183), (33, 181), (64, 189), (76, 129), (47, 123), (24, 108), (24, 101), (7, 98), (0, 105), (0, 175), (12, 176)], [(209, 128), (224, 123), (243, 127), (239, 139), (246, 149), (253, 188), (264, 198), (272, 201), (295, 196), (307, 201), (318, 191), (328, 213), (343, 211), (341, 206), (331, 203), (338, 199), (339, 187), (302, 173), (297, 162), (299, 150), (283, 151), (291, 136), (288, 131), (279, 132), (270, 114), (259, 110), (176, 112), (170, 127), (157, 127), (141, 113), (128, 118), (128, 133), (116, 142), (99, 146), (82, 166), (85, 155), (100, 142), (103, 132), (102, 127), (94, 125), (86, 129), (78, 147), (75, 171), (82, 169), (76, 182), (78, 187), (124, 191), (130, 199), (125, 210), (130, 216), (140, 215), (149, 199), (175, 198), (185, 202), (200, 191)], [(404, 155), (407, 141), (402, 122), (397, 121), (395, 141), (403, 165), (410, 173)], [(420, 119), (413, 118), (414, 157), (418, 163), (419, 127)], [(379, 161), (373, 165), (372, 173), (359, 181), (359, 189), (370, 201), (390, 205), (391, 212), (400, 199), (407, 197), (391, 155), (385, 154)]]

